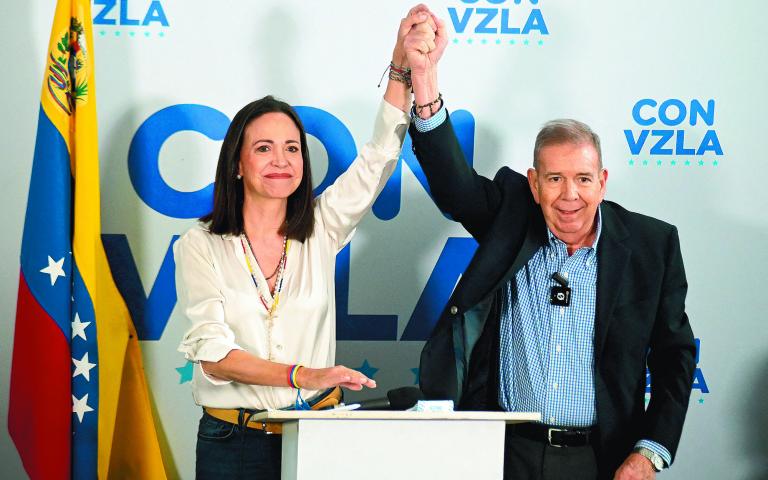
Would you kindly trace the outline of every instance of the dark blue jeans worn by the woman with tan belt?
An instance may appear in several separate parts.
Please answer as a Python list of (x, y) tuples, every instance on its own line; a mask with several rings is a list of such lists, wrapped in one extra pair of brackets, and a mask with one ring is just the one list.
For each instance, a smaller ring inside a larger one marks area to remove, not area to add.
[(282, 435), (240, 427), (203, 412), (197, 431), (198, 480), (280, 480)]

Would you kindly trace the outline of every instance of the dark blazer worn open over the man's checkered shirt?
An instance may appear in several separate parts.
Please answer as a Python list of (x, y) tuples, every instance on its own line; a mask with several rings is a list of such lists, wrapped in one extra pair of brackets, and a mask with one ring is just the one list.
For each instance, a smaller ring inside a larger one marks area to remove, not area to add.
[[(469, 167), (450, 120), (410, 133), (435, 203), (479, 243), (424, 346), (420, 386), (459, 409), (500, 410), (500, 287), (546, 244), (541, 208), (525, 176), (504, 167), (490, 180)], [(612, 478), (639, 439), (659, 442), (674, 459), (696, 365), (676, 228), (609, 201), (601, 212), (595, 449), (600, 477)]]

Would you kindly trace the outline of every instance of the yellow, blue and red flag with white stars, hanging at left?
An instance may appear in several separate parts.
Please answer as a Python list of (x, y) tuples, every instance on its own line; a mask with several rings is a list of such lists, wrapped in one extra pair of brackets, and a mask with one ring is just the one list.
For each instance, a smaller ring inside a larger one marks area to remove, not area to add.
[(100, 237), (90, 1), (58, 2), (46, 62), (8, 430), (33, 479), (166, 478), (136, 330)]

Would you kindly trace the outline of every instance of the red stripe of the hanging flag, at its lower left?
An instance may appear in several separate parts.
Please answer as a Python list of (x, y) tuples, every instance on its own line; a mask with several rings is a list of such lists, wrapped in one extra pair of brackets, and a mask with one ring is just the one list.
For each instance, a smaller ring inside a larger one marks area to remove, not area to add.
[(22, 273), (16, 303), (8, 432), (31, 479), (70, 475), (69, 339), (40, 307)]

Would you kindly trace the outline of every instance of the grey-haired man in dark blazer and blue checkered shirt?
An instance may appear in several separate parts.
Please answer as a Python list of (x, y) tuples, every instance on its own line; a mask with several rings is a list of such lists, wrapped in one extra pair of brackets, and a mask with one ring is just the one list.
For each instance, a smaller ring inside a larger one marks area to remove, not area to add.
[(677, 230), (603, 199), (599, 138), (580, 122), (545, 125), (527, 177), (478, 175), (438, 94), (436, 23), (405, 42), (413, 149), (479, 247), (424, 347), (421, 389), (463, 410), (540, 407), (540, 424), (507, 430), (505, 478), (654, 478), (674, 459), (695, 368)]

